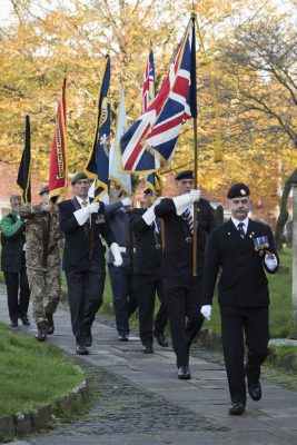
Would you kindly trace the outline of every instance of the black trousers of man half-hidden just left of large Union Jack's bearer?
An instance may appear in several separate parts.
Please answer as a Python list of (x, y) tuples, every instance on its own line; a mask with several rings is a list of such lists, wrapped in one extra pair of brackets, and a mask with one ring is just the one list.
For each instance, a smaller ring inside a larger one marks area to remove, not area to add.
[(152, 323), (156, 291), (161, 301), (155, 323), (156, 334), (164, 333), (168, 319), (168, 313), (164, 301), (162, 278), (157, 274), (136, 274), (135, 289), (138, 299), (139, 336), (142, 345), (151, 346), (154, 343)]

